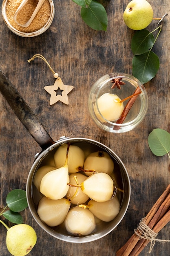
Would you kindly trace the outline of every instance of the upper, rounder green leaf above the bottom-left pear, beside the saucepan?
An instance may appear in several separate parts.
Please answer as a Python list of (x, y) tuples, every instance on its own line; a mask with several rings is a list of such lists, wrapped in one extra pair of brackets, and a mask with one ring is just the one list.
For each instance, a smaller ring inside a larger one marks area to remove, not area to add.
[(9, 209), (15, 212), (23, 211), (27, 206), (26, 191), (22, 189), (14, 189), (6, 198)]

